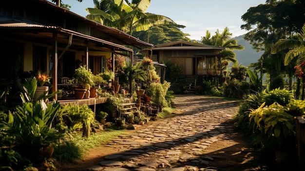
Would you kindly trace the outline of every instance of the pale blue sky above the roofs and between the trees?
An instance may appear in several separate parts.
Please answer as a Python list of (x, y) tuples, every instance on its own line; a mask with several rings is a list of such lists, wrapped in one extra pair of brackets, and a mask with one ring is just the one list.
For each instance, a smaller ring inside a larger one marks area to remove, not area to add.
[[(85, 17), (86, 8), (94, 8), (93, 0), (62, 0), (71, 6), (70, 11)], [(225, 27), (229, 28), (232, 38), (244, 35), (246, 30), (240, 26), (245, 24), (241, 19), (250, 7), (264, 4), (266, 0), (151, 0), (148, 13), (166, 16), (177, 24), (186, 26), (182, 32), (189, 34), (188, 38), (201, 40), (209, 30), (215, 35)]]

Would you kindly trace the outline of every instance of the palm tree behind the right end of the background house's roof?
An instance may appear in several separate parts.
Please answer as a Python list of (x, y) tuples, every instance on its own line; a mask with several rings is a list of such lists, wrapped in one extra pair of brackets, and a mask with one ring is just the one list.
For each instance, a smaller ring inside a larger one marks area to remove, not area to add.
[(226, 27), (222, 33), (219, 33), (218, 29), (215, 33), (216, 35), (211, 37), (209, 30), (207, 30), (206, 36), (201, 37), (202, 43), (226, 48), (225, 50), (220, 52), (220, 54), (223, 55), (221, 59), (222, 62), (231, 61), (233, 63), (236, 63), (236, 54), (233, 52), (233, 50), (244, 50), (245, 47), (242, 45), (238, 45), (237, 40), (231, 38), (232, 33), (229, 33), (228, 27)]

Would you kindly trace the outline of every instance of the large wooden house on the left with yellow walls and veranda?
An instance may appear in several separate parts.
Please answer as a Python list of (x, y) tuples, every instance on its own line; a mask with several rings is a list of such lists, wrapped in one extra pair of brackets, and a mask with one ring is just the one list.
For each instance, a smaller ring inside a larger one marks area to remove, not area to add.
[(57, 91), (58, 78), (72, 77), (79, 65), (97, 74), (114, 54), (133, 57), (132, 47), (152, 46), (48, 0), (0, 2), (2, 88), (14, 88), (22, 73), (39, 70), (52, 76)]

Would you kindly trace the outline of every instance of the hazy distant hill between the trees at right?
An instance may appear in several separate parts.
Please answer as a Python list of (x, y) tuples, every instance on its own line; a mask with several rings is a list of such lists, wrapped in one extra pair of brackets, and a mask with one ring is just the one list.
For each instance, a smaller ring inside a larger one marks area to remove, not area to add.
[(244, 39), (244, 35), (235, 37), (234, 39), (237, 40), (237, 44), (245, 46), (245, 49), (242, 51), (233, 51), (236, 54), (238, 64), (249, 66), (250, 63), (257, 62), (263, 55), (264, 52), (256, 52), (256, 50), (252, 48), (250, 42)]

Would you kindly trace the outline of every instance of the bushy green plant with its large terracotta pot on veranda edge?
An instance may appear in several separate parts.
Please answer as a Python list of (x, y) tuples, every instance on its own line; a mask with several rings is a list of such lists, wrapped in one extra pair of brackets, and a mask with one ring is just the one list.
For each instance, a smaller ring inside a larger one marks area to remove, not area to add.
[(91, 70), (87, 70), (86, 66), (80, 66), (75, 70), (75, 80), (77, 88), (75, 89), (75, 98), (82, 99), (87, 91), (87, 84), (93, 85), (93, 74)]

